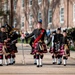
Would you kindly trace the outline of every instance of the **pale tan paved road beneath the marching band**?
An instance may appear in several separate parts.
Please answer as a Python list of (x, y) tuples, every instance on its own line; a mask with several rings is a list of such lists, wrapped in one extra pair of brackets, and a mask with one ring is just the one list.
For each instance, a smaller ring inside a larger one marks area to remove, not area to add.
[[(68, 65), (52, 65), (51, 54), (44, 55), (43, 67), (33, 65), (33, 56), (30, 55), (30, 47), (24, 46), (25, 64), (23, 64), (22, 47), (17, 45), (19, 52), (16, 56), (16, 64), (0, 67), (0, 75), (75, 75), (75, 58), (70, 57)], [(75, 52), (71, 52), (74, 56)]]

